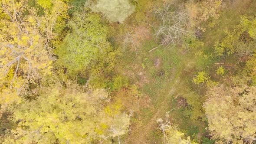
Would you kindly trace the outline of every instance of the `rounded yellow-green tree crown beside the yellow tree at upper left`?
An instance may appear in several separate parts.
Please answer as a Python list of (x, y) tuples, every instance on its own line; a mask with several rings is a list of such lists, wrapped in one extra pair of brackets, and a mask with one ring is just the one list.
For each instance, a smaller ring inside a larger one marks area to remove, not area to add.
[[(108, 28), (98, 14), (85, 10), (74, 13), (68, 26), (71, 30), (62, 44), (57, 46), (58, 62), (67, 68), (69, 75), (88, 74), (112, 69), (119, 51), (107, 41)], [(91, 72), (92, 72), (91, 71)]]

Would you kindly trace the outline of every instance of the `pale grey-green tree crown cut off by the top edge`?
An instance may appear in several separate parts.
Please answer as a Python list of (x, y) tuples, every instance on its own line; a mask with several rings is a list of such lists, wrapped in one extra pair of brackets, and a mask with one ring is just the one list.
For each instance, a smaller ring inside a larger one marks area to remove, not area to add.
[(91, 3), (90, 8), (94, 12), (103, 13), (111, 22), (122, 23), (128, 16), (135, 12), (135, 6), (131, 5), (129, 0), (97, 0), (97, 3)]

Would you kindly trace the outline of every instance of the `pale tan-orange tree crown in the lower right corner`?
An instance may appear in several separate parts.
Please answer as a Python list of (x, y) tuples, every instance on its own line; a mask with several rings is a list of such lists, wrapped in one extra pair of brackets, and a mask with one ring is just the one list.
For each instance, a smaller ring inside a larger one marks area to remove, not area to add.
[(204, 108), (213, 138), (252, 143), (256, 137), (256, 87), (215, 86), (207, 92)]

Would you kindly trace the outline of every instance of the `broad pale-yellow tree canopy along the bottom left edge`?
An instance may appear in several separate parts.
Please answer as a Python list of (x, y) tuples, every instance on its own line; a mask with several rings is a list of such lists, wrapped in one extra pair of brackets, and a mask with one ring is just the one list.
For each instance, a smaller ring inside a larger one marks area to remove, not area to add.
[(36, 100), (16, 105), (12, 121), (18, 125), (5, 143), (87, 144), (127, 133), (129, 116), (121, 105), (104, 106), (110, 100), (105, 90), (69, 87), (42, 88)]

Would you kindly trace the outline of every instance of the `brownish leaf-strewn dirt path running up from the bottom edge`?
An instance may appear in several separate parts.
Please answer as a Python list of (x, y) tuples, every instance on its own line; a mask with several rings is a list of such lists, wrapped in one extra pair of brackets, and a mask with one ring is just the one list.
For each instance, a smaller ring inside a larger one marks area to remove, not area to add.
[[(168, 88), (162, 88), (159, 90), (161, 94), (155, 95), (153, 98), (154, 101), (149, 106), (150, 111), (152, 112), (152, 117), (148, 120), (143, 116), (139, 117), (139, 122), (132, 123), (131, 134), (127, 137), (125, 144), (160, 144), (161, 139), (152, 137), (154, 131), (157, 130), (158, 118), (164, 118), (166, 111), (170, 110), (170, 99), (175, 91), (175, 85), (179, 81), (176, 80), (173, 84), (170, 84), (170, 90)], [(167, 86), (168, 87), (168, 86)], [(159, 104), (158, 107), (154, 106)]]

